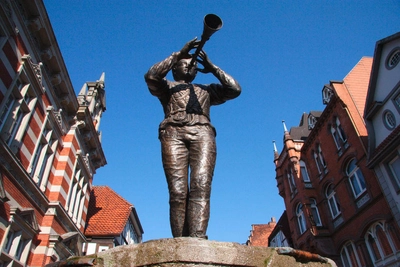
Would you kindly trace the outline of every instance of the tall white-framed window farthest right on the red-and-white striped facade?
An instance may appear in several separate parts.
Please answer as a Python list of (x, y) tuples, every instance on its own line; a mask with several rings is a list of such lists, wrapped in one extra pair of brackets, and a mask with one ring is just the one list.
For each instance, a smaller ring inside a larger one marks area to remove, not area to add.
[(66, 210), (77, 225), (81, 224), (83, 205), (88, 187), (87, 179), (79, 165), (80, 163), (76, 164), (66, 203)]

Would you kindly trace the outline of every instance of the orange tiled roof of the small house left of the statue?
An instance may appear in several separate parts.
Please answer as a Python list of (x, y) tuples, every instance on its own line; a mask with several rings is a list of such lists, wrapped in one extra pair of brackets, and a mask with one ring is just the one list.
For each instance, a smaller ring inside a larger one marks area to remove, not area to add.
[(86, 236), (120, 235), (133, 205), (108, 186), (94, 186), (90, 192)]

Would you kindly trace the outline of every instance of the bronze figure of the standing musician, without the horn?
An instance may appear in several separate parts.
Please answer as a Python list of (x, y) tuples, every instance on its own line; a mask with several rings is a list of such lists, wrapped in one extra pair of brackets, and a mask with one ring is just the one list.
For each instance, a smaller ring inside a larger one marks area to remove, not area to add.
[[(165, 114), (159, 126), (159, 139), (170, 195), (172, 235), (207, 239), (216, 160), (216, 132), (210, 122), (210, 106), (236, 98), (241, 88), (203, 50), (189, 54), (199, 45), (202, 46), (197, 38), (189, 41), (179, 52), (153, 65), (145, 74), (145, 81), (150, 93), (160, 100)], [(197, 68), (197, 62), (203, 69)], [(175, 81), (165, 78), (170, 70)], [(220, 84), (192, 83), (197, 71), (212, 73)]]

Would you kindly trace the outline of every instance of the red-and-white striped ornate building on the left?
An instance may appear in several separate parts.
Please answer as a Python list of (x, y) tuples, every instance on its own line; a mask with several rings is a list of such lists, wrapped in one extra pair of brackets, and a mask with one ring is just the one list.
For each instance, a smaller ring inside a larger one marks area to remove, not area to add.
[(82, 255), (104, 88), (75, 94), (41, 0), (0, 0), (0, 266)]

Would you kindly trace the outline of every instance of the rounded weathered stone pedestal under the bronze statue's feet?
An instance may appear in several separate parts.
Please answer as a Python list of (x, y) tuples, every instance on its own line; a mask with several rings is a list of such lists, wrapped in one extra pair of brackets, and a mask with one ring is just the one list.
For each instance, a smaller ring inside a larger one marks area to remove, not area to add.
[[(87, 264), (87, 265), (85, 265)], [(119, 246), (97, 255), (70, 258), (48, 266), (212, 267), (336, 266), (327, 258), (291, 248), (251, 247), (200, 238), (170, 238)]]

